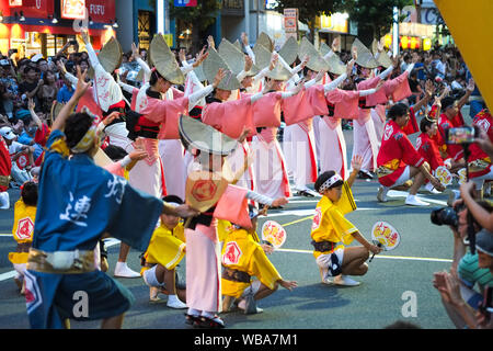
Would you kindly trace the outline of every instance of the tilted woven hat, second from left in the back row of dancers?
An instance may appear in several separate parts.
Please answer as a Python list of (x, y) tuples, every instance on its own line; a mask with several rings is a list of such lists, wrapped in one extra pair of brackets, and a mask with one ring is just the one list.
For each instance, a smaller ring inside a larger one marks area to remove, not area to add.
[(171, 52), (164, 36), (154, 35), (150, 44), (149, 57), (158, 72), (169, 82), (173, 84), (183, 84), (185, 77), (181, 71), (176, 57)]

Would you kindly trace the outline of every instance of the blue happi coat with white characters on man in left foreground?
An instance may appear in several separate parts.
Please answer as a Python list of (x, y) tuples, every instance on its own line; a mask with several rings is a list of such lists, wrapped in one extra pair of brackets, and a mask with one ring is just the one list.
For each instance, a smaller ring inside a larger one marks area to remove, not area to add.
[[(161, 200), (131, 188), (94, 165), (87, 154), (68, 158), (64, 133), (54, 131), (39, 178), (33, 248), (93, 250), (105, 233), (145, 251)], [(26, 271), (26, 307), (32, 328), (61, 328), (53, 301), (62, 274)]]

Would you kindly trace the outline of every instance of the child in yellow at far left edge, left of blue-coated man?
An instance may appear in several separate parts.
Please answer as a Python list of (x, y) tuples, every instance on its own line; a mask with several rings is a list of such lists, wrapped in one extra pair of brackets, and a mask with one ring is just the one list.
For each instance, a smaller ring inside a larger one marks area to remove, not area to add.
[(24, 271), (31, 244), (33, 242), (36, 203), (37, 184), (34, 182), (24, 183), (21, 190), (21, 199), (18, 200), (14, 206), (14, 223), (12, 227), (12, 235), (18, 242), (18, 247), (15, 252), (9, 252), (9, 261), (12, 262), (16, 271), (14, 281), (21, 290), (21, 294), (24, 293)]

